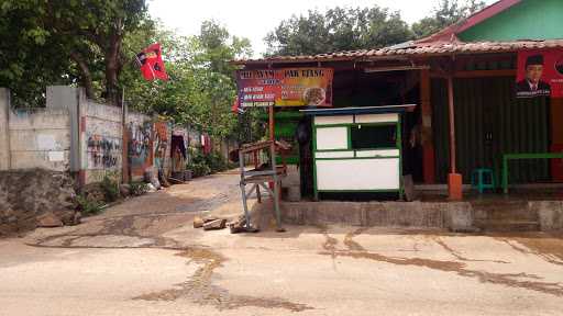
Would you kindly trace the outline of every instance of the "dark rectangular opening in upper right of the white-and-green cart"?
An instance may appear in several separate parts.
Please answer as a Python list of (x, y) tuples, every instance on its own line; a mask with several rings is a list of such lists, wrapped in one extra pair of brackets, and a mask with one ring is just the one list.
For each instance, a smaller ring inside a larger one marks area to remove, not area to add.
[(350, 127), (351, 149), (396, 148), (396, 125), (355, 125)]

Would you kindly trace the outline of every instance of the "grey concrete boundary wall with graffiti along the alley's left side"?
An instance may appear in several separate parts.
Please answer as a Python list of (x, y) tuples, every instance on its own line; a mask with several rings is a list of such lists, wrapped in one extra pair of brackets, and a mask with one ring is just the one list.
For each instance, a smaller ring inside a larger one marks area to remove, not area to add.
[(121, 108), (87, 99), (81, 88), (47, 87), (46, 97), (46, 108), (15, 112), (9, 90), (0, 88), (0, 170), (70, 171), (81, 185), (108, 173), (121, 178), (123, 170), (126, 180), (159, 167), (168, 174), (172, 124), (123, 115)]

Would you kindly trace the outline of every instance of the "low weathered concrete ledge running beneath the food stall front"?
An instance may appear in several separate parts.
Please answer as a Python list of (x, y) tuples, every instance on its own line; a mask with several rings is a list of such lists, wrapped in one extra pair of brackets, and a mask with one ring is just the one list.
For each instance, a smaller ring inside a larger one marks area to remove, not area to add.
[[(508, 206), (507, 206), (508, 205)], [(358, 227), (421, 227), (476, 232), (477, 223), (533, 218), (540, 230), (563, 229), (563, 201), (529, 201), (481, 210), (471, 202), (283, 202), (282, 218), (292, 225), (345, 225)], [(265, 222), (269, 203), (256, 204), (253, 213)], [(478, 219), (478, 221), (477, 221)]]

